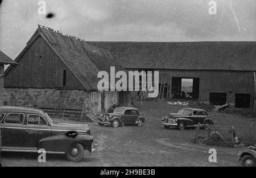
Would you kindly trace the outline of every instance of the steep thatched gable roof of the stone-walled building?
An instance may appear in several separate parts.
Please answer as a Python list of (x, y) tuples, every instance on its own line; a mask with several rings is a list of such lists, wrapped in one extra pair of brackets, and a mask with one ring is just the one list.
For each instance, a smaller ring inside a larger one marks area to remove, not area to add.
[(39, 35), (46, 40), (56, 55), (60, 57), (60, 60), (63, 61), (86, 90), (97, 90), (97, 84), (100, 80), (100, 78), (97, 78), (97, 74), (100, 71), (110, 73), (110, 67), (113, 66), (116, 71), (125, 71), (122, 65), (117, 63), (113, 55), (106, 49), (88, 44), (85, 40), (75, 36), (63, 35), (59, 31), (40, 25), (27, 42), (27, 46), (23, 49), (22, 53), (15, 59), (16, 61), (19, 60), (20, 56), (23, 55)]

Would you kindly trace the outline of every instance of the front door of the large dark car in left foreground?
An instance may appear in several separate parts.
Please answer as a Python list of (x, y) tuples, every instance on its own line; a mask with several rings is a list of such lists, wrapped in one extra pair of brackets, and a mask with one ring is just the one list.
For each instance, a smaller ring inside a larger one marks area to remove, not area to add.
[(51, 126), (43, 115), (28, 114), (24, 129), (23, 150), (38, 150), (39, 141), (51, 135)]

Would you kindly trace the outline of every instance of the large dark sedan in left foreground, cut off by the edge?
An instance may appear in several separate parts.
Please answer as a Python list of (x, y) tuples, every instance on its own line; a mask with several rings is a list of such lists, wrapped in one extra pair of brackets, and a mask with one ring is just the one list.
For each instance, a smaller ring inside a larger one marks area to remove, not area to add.
[(78, 162), (84, 151), (93, 152), (95, 144), (86, 125), (54, 124), (42, 110), (27, 107), (0, 107), (2, 151), (65, 154)]

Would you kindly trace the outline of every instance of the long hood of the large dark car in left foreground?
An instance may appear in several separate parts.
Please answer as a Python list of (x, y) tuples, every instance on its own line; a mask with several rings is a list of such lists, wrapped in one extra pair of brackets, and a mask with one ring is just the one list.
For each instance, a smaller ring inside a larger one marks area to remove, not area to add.
[(75, 124), (68, 124), (68, 123), (53, 123), (52, 130), (55, 131), (90, 131), (87, 125), (75, 125)]

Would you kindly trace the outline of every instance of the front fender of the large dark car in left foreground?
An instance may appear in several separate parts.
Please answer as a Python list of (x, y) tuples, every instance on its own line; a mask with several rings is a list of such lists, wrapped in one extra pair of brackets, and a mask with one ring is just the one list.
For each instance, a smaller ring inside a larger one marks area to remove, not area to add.
[(38, 148), (44, 148), (46, 151), (66, 152), (68, 147), (73, 143), (80, 143), (84, 149), (91, 150), (93, 136), (77, 134), (76, 136), (55, 135), (48, 136), (39, 141)]

